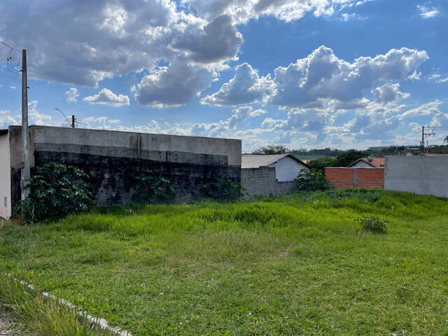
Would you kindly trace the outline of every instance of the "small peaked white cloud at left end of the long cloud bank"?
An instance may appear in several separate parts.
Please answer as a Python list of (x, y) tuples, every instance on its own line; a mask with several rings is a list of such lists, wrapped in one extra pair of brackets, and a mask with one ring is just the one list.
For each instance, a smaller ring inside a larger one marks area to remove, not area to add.
[(214, 94), (201, 99), (202, 104), (216, 106), (235, 106), (260, 102), (272, 93), (274, 83), (271, 76), (261, 77), (247, 63), (236, 67), (235, 76), (223, 84)]

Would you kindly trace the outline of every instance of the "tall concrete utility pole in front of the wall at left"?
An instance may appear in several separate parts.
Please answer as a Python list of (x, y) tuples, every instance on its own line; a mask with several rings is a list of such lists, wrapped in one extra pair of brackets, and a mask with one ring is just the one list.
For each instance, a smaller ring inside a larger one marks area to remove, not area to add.
[(22, 191), (22, 201), (29, 195), (27, 188), (30, 173), (29, 163), (29, 129), (28, 129), (28, 83), (27, 83), (27, 50), (22, 50), (22, 174), (20, 186)]

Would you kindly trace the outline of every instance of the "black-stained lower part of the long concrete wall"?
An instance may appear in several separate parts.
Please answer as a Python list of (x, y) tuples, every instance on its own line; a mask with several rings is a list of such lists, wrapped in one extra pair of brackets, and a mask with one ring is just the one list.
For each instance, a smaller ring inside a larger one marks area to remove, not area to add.
[[(36, 166), (60, 162), (83, 169), (94, 186), (93, 196), (98, 207), (136, 200), (135, 177), (141, 175), (156, 174), (171, 179), (179, 186), (176, 199), (181, 201), (204, 197), (202, 185), (219, 176), (241, 181), (241, 168), (228, 165), (224, 155), (87, 147), (90, 146), (35, 144), (34, 162)], [(98, 155), (99, 149), (118, 156)], [(20, 174), (18, 177), (20, 185)]]

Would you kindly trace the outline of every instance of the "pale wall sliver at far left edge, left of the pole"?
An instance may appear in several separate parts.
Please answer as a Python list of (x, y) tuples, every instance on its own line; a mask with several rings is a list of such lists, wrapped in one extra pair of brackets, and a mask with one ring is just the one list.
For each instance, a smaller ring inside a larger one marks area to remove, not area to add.
[(11, 215), (9, 133), (0, 135), (0, 217)]

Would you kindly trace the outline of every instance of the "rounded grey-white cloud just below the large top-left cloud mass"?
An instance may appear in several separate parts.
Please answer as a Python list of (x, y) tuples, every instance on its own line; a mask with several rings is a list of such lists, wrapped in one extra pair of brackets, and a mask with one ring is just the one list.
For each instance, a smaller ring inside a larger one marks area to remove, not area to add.
[(139, 104), (158, 109), (183, 106), (209, 87), (212, 78), (202, 66), (175, 62), (141, 78), (134, 97)]

